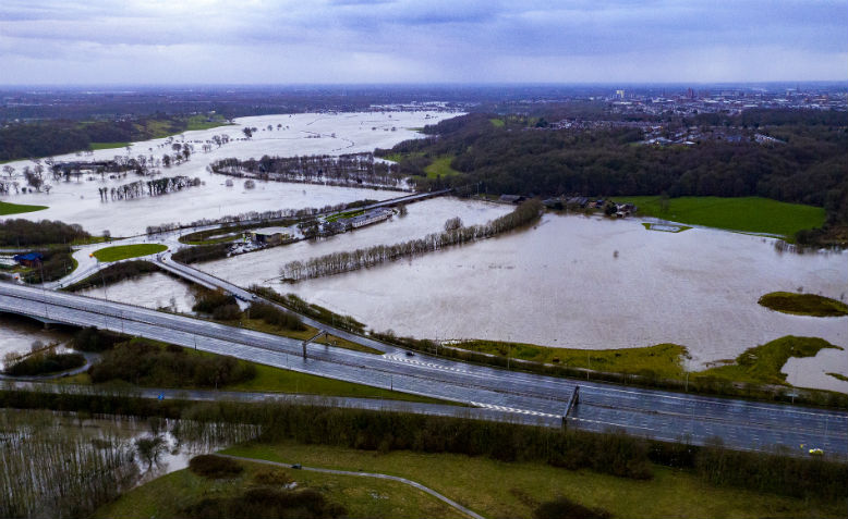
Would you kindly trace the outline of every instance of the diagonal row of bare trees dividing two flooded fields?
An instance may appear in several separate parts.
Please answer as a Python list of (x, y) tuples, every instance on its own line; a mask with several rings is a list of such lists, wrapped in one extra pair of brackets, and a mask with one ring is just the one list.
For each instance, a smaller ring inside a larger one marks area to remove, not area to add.
[(280, 274), (286, 280), (307, 280), (350, 272), (402, 257), (417, 256), (453, 245), (476, 242), (526, 225), (537, 219), (542, 210), (542, 202), (529, 200), (518, 206), (509, 214), (499, 217), (483, 225), (470, 225), (467, 227), (446, 225), (446, 227), (456, 228), (449, 228), (444, 233), (434, 233), (423, 238), (410, 239), (393, 245), (375, 245), (366, 249), (332, 252), (311, 258), (306, 261), (294, 260), (286, 263), (280, 270)]

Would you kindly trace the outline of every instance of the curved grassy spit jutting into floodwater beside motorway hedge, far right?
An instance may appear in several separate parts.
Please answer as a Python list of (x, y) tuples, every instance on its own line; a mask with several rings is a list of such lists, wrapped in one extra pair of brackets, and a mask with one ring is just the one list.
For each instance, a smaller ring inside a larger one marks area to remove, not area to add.
[(786, 384), (786, 374), (780, 369), (790, 357), (815, 357), (825, 348), (843, 349), (822, 338), (787, 335), (746, 349), (732, 364), (700, 371), (698, 375), (717, 376), (731, 382)]

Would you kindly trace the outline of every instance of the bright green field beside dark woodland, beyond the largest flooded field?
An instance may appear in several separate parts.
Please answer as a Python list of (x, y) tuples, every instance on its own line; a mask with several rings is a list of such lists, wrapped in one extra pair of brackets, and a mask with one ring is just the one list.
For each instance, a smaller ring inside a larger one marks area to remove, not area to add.
[(759, 197), (671, 198), (667, 210), (663, 210), (658, 196), (615, 197), (615, 200), (635, 203), (639, 207), (638, 214), (642, 217), (789, 238), (803, 228), (821, 227), (825, 218), (823, 208)]

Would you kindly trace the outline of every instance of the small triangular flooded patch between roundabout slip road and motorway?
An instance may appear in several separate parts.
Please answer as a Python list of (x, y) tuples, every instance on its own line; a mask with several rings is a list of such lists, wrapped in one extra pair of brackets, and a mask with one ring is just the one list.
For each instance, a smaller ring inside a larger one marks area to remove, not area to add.
[(170, 311), (183, 313), (191, 313), (194, 305), (192, 286), (161, 272), (106, 285), (106, 291), (100, 286), (86, 288), (77, 294), (153, 309), (168, 308)]

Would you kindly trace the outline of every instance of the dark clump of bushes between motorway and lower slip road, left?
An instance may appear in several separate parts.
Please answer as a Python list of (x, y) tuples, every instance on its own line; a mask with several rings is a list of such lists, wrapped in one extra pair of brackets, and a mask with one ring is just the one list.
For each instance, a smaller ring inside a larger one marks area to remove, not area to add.
[(180, 346), (144, 338), (119, 343), (88, 370), (92, 382), (124, 381), (148, 387), (220, 387), (256, 376), (256, 368), (232, 357), (191, 355)]

